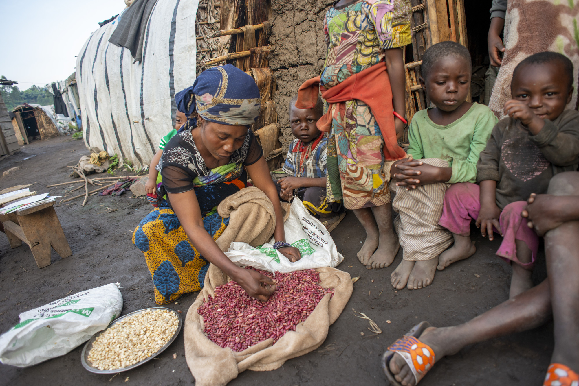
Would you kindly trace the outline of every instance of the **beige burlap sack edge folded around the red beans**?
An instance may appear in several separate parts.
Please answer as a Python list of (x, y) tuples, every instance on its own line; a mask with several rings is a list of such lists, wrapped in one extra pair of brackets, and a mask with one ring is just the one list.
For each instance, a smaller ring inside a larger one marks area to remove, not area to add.
[(205, 284), (195, 303), (189, 308), (185, 318), (185, 358), (195, 377), (196, 386), (221, 386), (250, 369), (269, 371), (279, 368), (291, 358), (316, 350), (328, 335), (328, 329), (342, 313), (350, 299), (354, 285), (350, 274), (336, 268), (318, 268), (320, 284), (324, 288), (334, 288), (334, 297), (327, 294), (316, 309), (301, 322), (296, 331), (288, 331), (275, 344), (266, 339), (241, 352), (222, 348), (211, 342), (203, 333), (203, 318), (197, 308), (205, 299), (214, 296), (218, 285), (230, 279), (219, 268), (210, 265), (205, 276)]

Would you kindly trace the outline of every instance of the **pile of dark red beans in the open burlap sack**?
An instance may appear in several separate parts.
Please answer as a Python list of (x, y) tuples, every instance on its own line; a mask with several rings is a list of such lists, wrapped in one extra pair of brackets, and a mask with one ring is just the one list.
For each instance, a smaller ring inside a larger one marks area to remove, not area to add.
[(215, 288), (214, 298), (197, 309), (207, 337), (233, 351), (243, 351), (268, 338), (277, 342), (285, 332), (295, 331), (325, 294), (334, 294), (334, 289), (318, 284), (320, 274), (313, 269), (278, 272), (275, 279), (276, 291), (267, 302), (251, 298), (234, 281)]

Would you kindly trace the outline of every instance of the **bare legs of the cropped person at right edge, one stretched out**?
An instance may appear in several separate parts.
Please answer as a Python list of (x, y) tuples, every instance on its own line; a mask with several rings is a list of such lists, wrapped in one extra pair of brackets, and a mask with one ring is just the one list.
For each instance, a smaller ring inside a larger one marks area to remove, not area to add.
[[(523, 212), (528, 212), (539, 234), (547, 231), (548, 278), (464, 324), (425, 329), (419, 339), (433, 351), (431, 363), (456, 354), (467, 344), (536, 328), (552, 315), (555, 349), (544, 385), (579, 384), (579, 173), (555, 176), (549, 184), (549, 194), (562, 197), (536, 196), (529, 199), (530, 205)], [(404, 386), (416, 385), (424, 376), (415, 376), (398, 353), (391, 357), (385, 371)], [(576, 380), (578, 383), (574, 383)]]

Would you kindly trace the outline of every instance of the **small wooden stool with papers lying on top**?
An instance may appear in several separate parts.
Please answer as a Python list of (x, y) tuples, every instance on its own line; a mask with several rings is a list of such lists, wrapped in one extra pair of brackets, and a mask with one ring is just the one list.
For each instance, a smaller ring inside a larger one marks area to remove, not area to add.
[(22, 242), (28, 244), (38, 268), (50, 265), (50, 246), (63, 259), (72, 255), (53, 205), (54, 202), (47, 202), (9, 214), (0, 214), (10, 247), (20, 247)]

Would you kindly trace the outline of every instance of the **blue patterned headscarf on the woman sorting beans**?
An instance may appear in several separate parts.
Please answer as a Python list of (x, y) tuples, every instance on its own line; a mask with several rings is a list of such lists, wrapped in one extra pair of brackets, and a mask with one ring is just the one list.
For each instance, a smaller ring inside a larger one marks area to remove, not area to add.
[[(251, 126), (261, 110), (255, 80), (231, 64), (201, 72), (192, 87), (175, 95), (175, 102), (177, 109), (186, 115), (197, 110), (206, 121), (233, 126)], [(197, 123), (193, 120), (188, 124), (195, 126)]]

